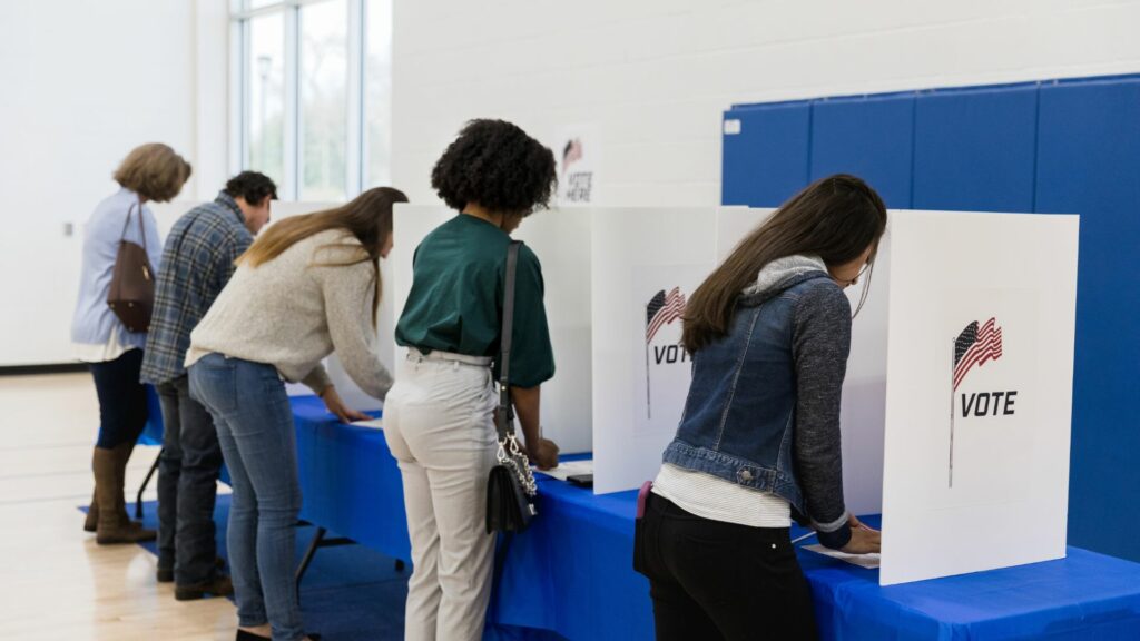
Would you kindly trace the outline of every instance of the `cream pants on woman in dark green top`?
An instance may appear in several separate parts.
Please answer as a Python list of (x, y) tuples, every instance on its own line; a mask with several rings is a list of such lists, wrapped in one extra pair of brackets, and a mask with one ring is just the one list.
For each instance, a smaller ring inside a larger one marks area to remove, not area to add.
[(490, 359), (413, 350), (384, 401), (384, 436), (400, 465), (414, 566), (406, 641), (478, 641), (490, 597), (495, 536), (487, 474), (497, 405)]

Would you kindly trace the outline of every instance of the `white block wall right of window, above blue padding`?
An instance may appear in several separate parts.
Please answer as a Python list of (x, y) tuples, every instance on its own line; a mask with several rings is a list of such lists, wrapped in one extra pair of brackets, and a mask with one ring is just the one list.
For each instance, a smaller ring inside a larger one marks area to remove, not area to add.
[[(1140, 71), (1137, 0), (396, 0), (393, 181), (472, 117), (593, 124), (611, 205), (719, 202), (733, 103)], [(588, 152), (588, 148), (587, 148)]]

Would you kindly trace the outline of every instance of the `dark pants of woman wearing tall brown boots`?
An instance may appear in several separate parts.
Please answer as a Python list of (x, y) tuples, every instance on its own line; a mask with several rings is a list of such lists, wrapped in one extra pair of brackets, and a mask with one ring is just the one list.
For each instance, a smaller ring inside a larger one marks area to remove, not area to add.
[(111, 449), (135, 443), (146, 427), (146, 387), (139, 382), (142, 350), (132, 349), (114, 360), (91, 363), (95, 391), (99, 395), (99, 440)]

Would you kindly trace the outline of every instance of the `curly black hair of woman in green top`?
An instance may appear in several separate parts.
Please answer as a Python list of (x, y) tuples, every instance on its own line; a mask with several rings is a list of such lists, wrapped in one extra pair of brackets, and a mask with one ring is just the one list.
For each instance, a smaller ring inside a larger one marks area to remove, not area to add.
[(510, 122), (472, 120), (435, 162), (431, 186), (455, 210), (473, 202), (529, 216), (557, 186), (554, 153)]

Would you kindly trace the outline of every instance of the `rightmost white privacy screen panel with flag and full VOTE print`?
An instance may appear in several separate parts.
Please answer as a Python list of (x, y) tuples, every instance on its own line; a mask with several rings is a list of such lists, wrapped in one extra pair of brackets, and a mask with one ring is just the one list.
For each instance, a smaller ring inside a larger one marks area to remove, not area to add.
[(882, 585), (1065, 557), (1077, 226), (891, 212)]

